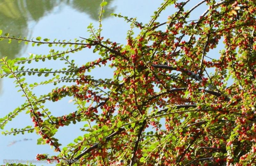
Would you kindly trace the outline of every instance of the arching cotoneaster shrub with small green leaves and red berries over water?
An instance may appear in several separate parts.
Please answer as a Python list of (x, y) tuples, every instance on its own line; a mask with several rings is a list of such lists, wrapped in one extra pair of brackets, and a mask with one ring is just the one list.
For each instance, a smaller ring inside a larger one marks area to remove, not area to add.
[[(10, 43), (67, 47), (66, 51), (50, 49), (48, 55), (1, 59), (1, 77), (14, 79), (26, 99), (0, 119), (1, 129), (24, 110), (34, 123), (34, 128), (2, 133), (35, 130), (40, 135), (38, 145), (49, 144), (59, 152), (36, 158), (57, 159), (59, 165), (65, 165), (63, 160), (76, 161), (74, 165), (255, 164), (256, 3), (202, 1), (184, 11), (188, 2), (164, 1), (148, 24), (113, 14), (131, 23), (125, 45), (104, 39), (101, 23), (99, 29), (90, 24), (89, 38), (74, 42), (1, 36)], [(209, 9), (197, 20), (189, 20), (190, 13), (204, 3)], [(103, 1), (99, 22), (105, 5)], [(177, 11), (166, 22), (156, 22), (170, 5)], [(160, 30), (161, 26), (166, 29)], [(134, 28), (140, 33), (135, 34)], [(210, 52), (220, 40), (224, 49), (216, 58)], [(91, 48), (98, 54), (95, 60), (77, 66), (69, 59), (69, 53)], [(48, 60), (63, 61), (65, 67), (26, 67)], [(94, 79), (87, 74), (107, 64), (115, 69), (112, 78)], [(209, 73), (210, 69), (215, 71)], [(28, 76), (49, 78), (28, 85)], [(33, 94), (34, 87), (61, 82), (69, 84), (41, 96)], [(55, 117), (44, 107), (45, 101), (65, 97), (73, 97), (75, 112)], [(61, 139), (55, 138), (58, 129), (78, 122), (85, 123), (80, 129), (84, 135), (60, 149)]]

